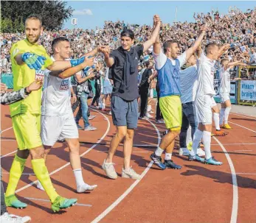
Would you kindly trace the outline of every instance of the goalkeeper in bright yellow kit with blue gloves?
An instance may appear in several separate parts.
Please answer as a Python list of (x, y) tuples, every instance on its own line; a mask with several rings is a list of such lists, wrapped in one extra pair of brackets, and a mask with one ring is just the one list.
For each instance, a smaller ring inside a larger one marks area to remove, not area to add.
[[(51, 71), (65, 70), (85, 60), (55, 61), (39, 45), (39, 38), (43, 32), (41, 18), (30, 15), (25, 21), (26, 39), (13, 44), (10, 51), (13, 69), (13, 88), (18, 91), (34, 80), (44, 79), (44, 69)], [(13, 121), (13, 131), (18, 143), (18, 151), (10, 169), (9, 183), (5, 194), (7, 206), (26, 208), (27, 204), (15, 197), (15, 188), (24, 170), (27, 157), (32, 157), (32, 169), (36, 177), (44, 186), (46, 194), (52, 202), (52, 210), (68, 208), (77, 202), (77, 199), (60, 197), (52, 186), (48, 170), (44, 161), (44, 146), (41, 132), (41, 90), (33, 91), (27, 99), (10, 105), (10, 116)]]

